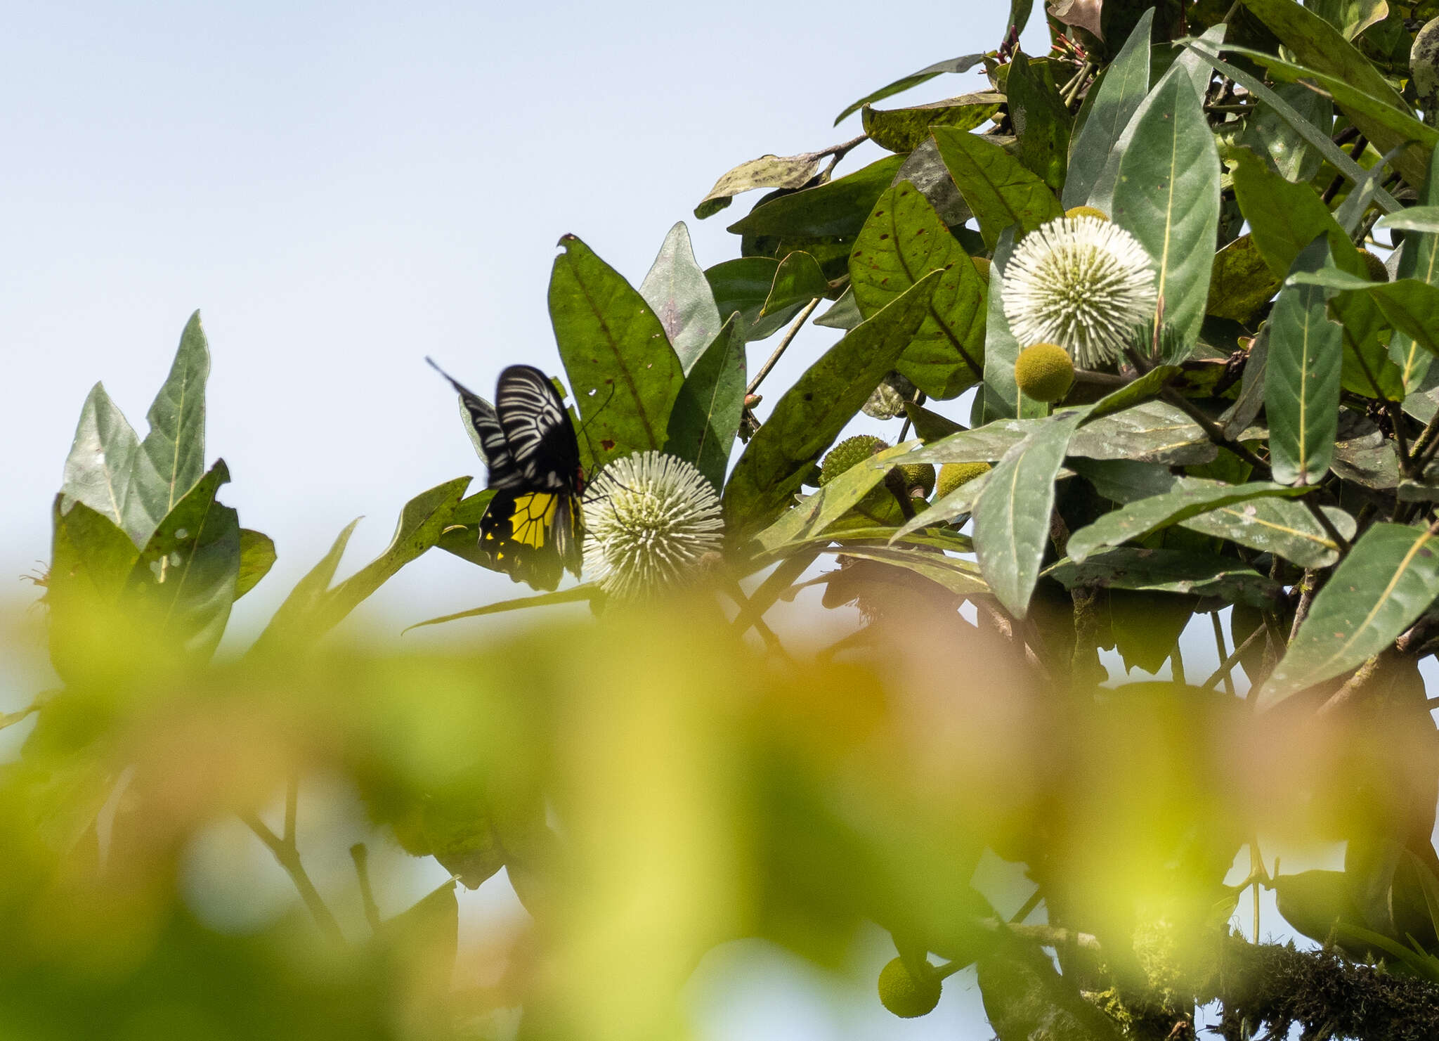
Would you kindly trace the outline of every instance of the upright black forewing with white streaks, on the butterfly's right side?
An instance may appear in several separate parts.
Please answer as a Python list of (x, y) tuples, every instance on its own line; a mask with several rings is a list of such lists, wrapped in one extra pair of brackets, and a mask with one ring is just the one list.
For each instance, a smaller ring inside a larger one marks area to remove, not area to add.
[(495, 410), (522, 484), (573, 491), (580, 442), (550, 377), (532, 366), (509, 366), (495, 387)]

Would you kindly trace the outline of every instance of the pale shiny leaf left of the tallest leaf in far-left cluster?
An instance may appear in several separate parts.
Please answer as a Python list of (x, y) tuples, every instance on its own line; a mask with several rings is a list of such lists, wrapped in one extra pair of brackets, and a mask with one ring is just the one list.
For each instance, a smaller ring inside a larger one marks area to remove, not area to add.
[(142, 546), (150, 518), (138, 501), (130, 501), (130, 471), (138, 449), (135, 431), (105, 393), (105, 384), (96, 383), (81, 409), (60, 491), (108, 517)]

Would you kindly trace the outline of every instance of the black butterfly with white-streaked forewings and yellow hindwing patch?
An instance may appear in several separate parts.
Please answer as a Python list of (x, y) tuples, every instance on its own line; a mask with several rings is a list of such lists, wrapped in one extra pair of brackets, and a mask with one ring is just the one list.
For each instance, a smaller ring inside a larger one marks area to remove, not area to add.
[(479, 547), (495, 569), (535, 589), (554, 589), (568, 569), (580, 574), (580, 492), (584, 469), (570, 413), (534, 366), (499, 373), (495, 403), (443, 369), (479, 435), (495, 490), (479, 521)]

